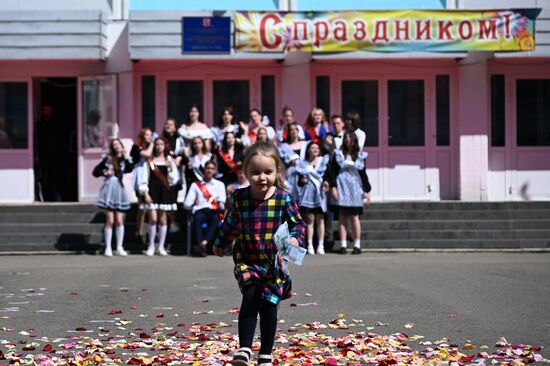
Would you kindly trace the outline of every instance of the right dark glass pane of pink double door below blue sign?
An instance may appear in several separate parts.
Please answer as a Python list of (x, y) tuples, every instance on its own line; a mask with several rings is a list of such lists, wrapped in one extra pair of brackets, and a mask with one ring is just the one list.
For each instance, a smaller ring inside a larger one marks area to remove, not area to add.
[(249, 90), (248, 80), (214, 80), (214, 124), (218, 122), (223, 108), (227, 106), (235, 109), (235, 115), (233, 116), (235, 122), (248, 122)]

